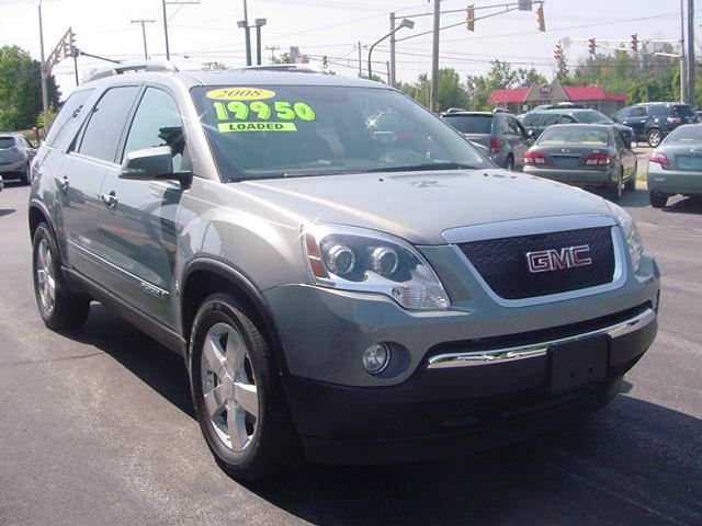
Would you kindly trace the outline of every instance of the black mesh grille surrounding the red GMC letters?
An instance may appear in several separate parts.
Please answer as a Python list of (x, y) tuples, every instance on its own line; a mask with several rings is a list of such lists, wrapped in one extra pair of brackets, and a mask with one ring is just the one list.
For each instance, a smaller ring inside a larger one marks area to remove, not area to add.
[[(592, 260), (587, 266), (531, 273), (528, 252), (561, 250), (587, 244)], [(519, 236), (460, 243), (488, 286), (501, 298), (523, 299), (579, 290), (610, 283), (614, 277), (614, 247), (611, 227)]]

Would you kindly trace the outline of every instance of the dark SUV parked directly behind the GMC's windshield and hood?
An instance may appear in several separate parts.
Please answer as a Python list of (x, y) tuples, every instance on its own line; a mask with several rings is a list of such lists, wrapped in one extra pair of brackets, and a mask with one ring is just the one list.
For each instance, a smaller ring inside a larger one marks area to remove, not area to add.
[(489, 148), (490, 158), (500, 168), (521, 170), (524, 153), (533, 141), (517, 118), (505, 112), (446, 112), (441, 115), (463, 136)]

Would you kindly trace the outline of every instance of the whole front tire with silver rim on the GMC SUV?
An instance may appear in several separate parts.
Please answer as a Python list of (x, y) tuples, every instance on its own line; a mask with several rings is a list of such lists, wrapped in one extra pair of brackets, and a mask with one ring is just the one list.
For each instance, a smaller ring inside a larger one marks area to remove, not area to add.
[(225, 471), (253, 481), (301, 462), (299, 439), (263, 329), (230, 296), (215, 294), (200, 307), (189, 368), (200, 427)]

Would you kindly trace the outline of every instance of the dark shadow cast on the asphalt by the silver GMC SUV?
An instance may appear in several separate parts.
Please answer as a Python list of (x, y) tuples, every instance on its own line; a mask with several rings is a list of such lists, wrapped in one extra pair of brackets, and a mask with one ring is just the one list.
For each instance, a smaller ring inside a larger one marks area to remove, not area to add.
[[(182, 358), (101, 305), (70, 338), (110, 354), (193, 416)], [(632, 388), (626, 382), (624, 392)], [(575, 425), (488, 454), (399, 466), (307, 465), (246, 485), (325, 525), (702, 524), (701, 436), (701, 420), (621, 395)]]

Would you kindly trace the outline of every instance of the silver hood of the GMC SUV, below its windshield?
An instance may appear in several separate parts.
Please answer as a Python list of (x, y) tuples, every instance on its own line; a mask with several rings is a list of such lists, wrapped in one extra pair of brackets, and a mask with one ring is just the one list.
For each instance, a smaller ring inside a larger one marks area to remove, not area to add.
[(230, 184), (253, 203), (265, 203), (302, 222), (370, 228), (415, 244), (445, 244), (441, 233), (455, 227), (575, 214), (611, 215), (601, 197), (503, 170), (364, 173)]

